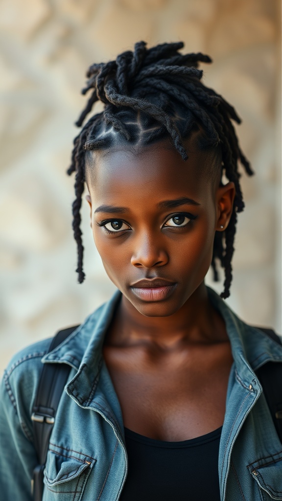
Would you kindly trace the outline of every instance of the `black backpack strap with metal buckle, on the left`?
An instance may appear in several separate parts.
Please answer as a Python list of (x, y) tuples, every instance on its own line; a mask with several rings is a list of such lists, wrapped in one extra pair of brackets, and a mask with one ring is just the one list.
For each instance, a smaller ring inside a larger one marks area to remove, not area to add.
[[(59, 331), (51, 341), (48, 353), (59, 346), (78, 326)], [(71, 367), (67, 364), (44, 364), (39, 380), (37, 394), (32, 409), (34, 446), (38, 465), (34, 468), (32, 493), (34, 501), (41, 501), (43, 495), (43, 471), (51, 431), (56, 411), (67, 382)]]

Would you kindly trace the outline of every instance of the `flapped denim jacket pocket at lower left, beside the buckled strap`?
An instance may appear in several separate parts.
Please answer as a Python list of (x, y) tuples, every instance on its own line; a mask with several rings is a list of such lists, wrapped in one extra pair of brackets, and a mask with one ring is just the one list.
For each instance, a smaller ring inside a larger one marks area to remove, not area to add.
[(74, 455), (72, 451), (64, 453), (50, 451), (44, 470), (43, 501), (80, 501), (88, 476), (96, 460)]

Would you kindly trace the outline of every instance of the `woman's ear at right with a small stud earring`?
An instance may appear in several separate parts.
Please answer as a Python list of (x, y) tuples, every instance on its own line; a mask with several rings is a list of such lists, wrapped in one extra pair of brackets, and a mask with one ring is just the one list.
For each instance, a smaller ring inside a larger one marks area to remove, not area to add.
[(230, 221), (235, 197), (235, 185), (229, 182), (224, 186), (219, 186), (216, 191), (216, 230), (224, 231)]

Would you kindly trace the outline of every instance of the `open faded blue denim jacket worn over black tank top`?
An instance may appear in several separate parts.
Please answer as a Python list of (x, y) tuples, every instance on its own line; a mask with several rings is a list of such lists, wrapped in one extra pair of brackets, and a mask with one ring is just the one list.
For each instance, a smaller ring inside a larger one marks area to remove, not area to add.
[[(219, 448), (221, 501), (282, 499), (282, 445), (255, 375), (268, 361), (282, 362), (282, 347), (239, 320), (211, 289), (208, 292), (225, 320), (234, 359)], [(51, 435), (44, 501), (119, 498), (127, 473), (123, 423), (102, 358), (104, 335), (119, 298), (117, 292), (51, 353), (46, 354), (50, 340), (40, 341), (22, 350), (8, 366), (0, 396), (3, 501), (32, 499), (37, 461), (31, 412), (42, 362), (72, 367)]]

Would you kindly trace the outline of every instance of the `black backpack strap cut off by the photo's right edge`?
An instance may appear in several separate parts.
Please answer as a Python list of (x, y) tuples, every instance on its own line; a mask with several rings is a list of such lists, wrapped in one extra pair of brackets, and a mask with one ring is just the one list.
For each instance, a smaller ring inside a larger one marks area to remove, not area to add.
[[(271, 329), (262, 329), (268, 337), (281, 345), (281, 339)], [(267, 362), (256, 371), (257, 377), (261, 383), (264, 396), (269, 407), (272, 420), (282, 443), (282, 363)]]

